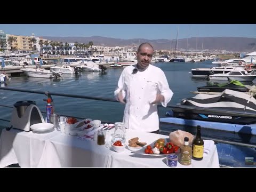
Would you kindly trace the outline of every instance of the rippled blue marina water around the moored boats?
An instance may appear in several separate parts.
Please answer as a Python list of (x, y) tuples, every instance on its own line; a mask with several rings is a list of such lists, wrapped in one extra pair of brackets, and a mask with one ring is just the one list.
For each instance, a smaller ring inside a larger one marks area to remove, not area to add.
[[(194, 97), (195, 94), (190, 91), (197, 91), (198, 86), (205, 86), (206, 80), (204, 78), (193, 78), (191, 75), (191, 69), (193, 68), (211, 68), (216, 65), (212, 64), (212, 61), (204, 62), (165, 62), (155, 63), (155, 66), (161, 68), (169, 82), (170, 89), (173, 91), (173, 98), (169, 102), (169, 105), (175, 105), (180, 103), (182, 99)], [(123, 69), (108, 68), (105, 73), (99, 72), (84, 72), (78, 75), (63, 74), (59, 79), (44, 79), (44, 78), (33, 78), (33, 77), (12, 77), (5, 87), (21, 90), (30, 91), (49, 91), (54, 93), (65, 93), (65, 94), (76, 94), (91, 97), (109, 98), (114, 99), (114, 90), (117, 87), (119, 76)], [(3, 84), (1, 85), (3, 86)], [(22, 100), (34, 100), (36, 105), (41, 111), (45, 111), (46, 95), (15, 92), (0, 90), (1, 105), (12, 107), (17, 101)], [(52, 95), (55, 111), (65, 116), (76, 116), (82, 118), (100, 119), (103, 122), (122, 122), (124, 105), (119, 102), (108, 102), (99, 100), (79, 99), (79, 98), (68, 98), (59, 97)], [(165, 117), (165, 113), (168, 108), (159, 107), (159, 116)], [(45, 111), (46, 112), (46, 111)], [(0, 119), (11, 119), (12, 108), (0, 107)], [(46, 114), (43, 114), (45, 117)], [(8, 126), (9, 122), (1, 121), (2, 126)], [(181, 129), (181, 127), (163, 126), (166, 131), (174, 131), (175, 129)], [(184, 129), (183, 129), (184, 130)], [(186, 131), (186, 127), (185, 127)], [(193, 130), (194, 134), (196, 128)], [(193, 131), (190, 131), (193, 133)], [(218, 138), (222, 135), (222, 138), (230, 138), (230, 134), (226, 132), (217, 132), (209, 130), (209, 135)], [(202, 134), (204, 132), (202, 131)], [(225, 136), (226, 135), (226, 136)], [(240, 137), (236, 134), (237, 140), (247, 139), (248, 142), (253, 143), (256, 140), (254, 136)], [(236, 141), (236, 139), (234, 139)], [(234, 153), (234, 148), (231, 145), (227, 145), (226, 148), (221, 148), (217, 145), (220, 163), (224, 162), (230, 166), (244, 166), (244, 157), (255, 155), (255, 149), (246, 148), (246, 154), (239, 157), (234, 157), (234, 161), (230, 161), (230, 156)], [(255, 145), (255, 144), (254, 144)], [(250, 150), (250, 151), (248, 151)], [(239, 150), (241, 151), (241, 150)], [(237, 152), (238, 153), (238, 152)], [(239, 152), (241, 153), (241, 152)], [(249, 154), (249, 155), (248, 155)], [(254, 156), (256, 159), (256, 155)], [(227, 161), (227, 162), (225, 162)]]

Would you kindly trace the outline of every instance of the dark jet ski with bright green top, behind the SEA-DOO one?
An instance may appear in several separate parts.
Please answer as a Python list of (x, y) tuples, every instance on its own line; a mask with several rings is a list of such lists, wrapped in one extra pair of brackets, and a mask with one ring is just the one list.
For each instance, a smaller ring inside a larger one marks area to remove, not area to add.
[(237, 80), (230, 81), (228, 83), (207, 83), (206, 86), (197, 87), (197, 91), (199, 92), (222, 92), (225, 89), (240, 91), (240, 92), (248, 92), (249, 88), (247, 88), (244, 84)]

